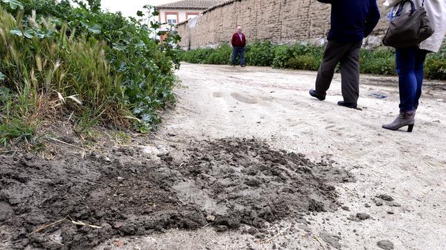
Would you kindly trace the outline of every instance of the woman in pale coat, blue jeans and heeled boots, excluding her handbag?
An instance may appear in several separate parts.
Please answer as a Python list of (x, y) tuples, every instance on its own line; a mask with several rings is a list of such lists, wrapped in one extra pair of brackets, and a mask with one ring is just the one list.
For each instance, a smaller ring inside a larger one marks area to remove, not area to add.
[[(393, 10), (398, 10), (400, 3), (401, 0), (388, 0), (384, 3), (385, 6), (392, 8), (390, 17), (394, 14)], [(440, 50), (446, 32), (445, 0), (413, 0), (413, 3), (416, 8), (424, 4), (434, 34), (421, 44), (395, 50), (396, 72), (400, 88), (400, 115), (391, 124), (382, 126), (393, 131), (407, 126), (407, 131), (412, 132), (422, 92), (426, 55)], [(411, 4), (405, 4), (403, 12), (410, 10)]]

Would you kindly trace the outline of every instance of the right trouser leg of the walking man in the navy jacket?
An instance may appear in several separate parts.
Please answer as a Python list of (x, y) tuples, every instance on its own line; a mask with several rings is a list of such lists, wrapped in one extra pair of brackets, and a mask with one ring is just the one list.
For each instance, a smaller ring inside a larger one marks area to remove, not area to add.
[(359, 50), (362, 41), (353, 44), (341, 59), (341, 89), (345, 104), (356, 106), (359, 98)]

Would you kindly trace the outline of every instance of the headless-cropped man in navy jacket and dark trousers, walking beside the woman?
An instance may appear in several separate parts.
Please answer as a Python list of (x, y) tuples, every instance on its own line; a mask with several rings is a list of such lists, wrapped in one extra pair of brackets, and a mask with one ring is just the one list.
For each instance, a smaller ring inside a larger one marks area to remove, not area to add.
[(337, 64), (341, 63), (341, 88), (344, 101), (339, 106), (357, 108), (359, 98), (359, 50), (362, 39), (371, 34), (380, 10), (376, 0), (318, 0), (330, 3), (331, 29), (328, 44), (317, 73), (316, 89), (310, 95), (323, 101), (333, 79)]

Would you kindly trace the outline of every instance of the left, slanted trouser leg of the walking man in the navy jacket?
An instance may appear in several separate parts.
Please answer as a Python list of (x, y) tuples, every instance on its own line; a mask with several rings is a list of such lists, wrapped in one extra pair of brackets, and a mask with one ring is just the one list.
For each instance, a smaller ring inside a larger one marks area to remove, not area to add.
[(325, 46), (321, 66), (319, 67), (316, 77), (315, 90), (319, 97), (325, 99), (325, 95), (327, 95), (327, 90), (330, 88), (333, 79), (334, 70), (344, 53), (350, 48), (350, 45), (351, 44), (344, 44), (337, 41), (328, 41), (327, 46)]

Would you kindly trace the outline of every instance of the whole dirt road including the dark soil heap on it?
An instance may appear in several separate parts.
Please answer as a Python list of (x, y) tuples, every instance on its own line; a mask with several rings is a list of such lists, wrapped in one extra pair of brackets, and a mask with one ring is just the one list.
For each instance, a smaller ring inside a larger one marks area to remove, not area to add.
[(51, 124), (41, 153), (0, 153), (0, 249), (446, 249), (446, 83), (406, 133), (381, 128), (394, 77), (363, 76), (352, 110), (339, 75), (325, 102), (315, 73), (178, 75), (156, 134)]

